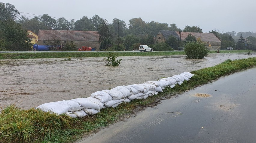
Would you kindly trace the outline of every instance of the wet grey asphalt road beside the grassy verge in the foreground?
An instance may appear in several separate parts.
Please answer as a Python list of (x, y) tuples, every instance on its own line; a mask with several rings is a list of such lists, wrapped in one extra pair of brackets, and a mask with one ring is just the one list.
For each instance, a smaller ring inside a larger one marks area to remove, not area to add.
[[(196, 93), (212, 97), (193, 96)], [(255, 107), (256, 68), (252, 68), (163, 100), (77, 143), (255, 143)]]

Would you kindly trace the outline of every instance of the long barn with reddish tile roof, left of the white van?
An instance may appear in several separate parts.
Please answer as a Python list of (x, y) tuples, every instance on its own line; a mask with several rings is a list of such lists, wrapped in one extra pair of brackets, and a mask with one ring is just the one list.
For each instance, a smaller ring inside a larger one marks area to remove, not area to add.
[(75, 30), (39, 30), (38, 45), (65, 46), (74, 43), (77, 47), (87, 46), (99, 50), (99, 34), (97, 31), (75, 31)]

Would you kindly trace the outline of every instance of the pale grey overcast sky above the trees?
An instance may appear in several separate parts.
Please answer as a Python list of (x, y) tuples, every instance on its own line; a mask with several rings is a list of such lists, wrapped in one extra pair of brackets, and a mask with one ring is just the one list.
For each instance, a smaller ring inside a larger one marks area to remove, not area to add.
[[(0, 0), (13, 4), (21, 15), (48, 14), (66, 19), (98, 15), (112, 21), (142, 18), (145, 22), (175, 23), (178, 28), (200, 26), (204, 33), (218, 29), (256, 32), (255, 0)], [(31, 14), (26, 14), (31, 13)], [(31, 16), (31, 17), (29, 17)]]

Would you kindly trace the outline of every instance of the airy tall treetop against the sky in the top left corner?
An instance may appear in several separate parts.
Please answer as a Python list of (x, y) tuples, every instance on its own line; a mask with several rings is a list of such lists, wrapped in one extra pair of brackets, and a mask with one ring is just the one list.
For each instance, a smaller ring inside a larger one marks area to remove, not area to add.
[(16, 16), (19, 15), (20, 12), (16, 9), (16, 7), (10, 3), (0, 2), (0, 20), (15, 20)]

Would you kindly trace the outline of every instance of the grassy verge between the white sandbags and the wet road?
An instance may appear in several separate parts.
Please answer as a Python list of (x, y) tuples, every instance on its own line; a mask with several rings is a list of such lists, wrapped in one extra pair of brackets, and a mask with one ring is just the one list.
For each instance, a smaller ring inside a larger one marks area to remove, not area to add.
[(93, 116), (81, 119), (72, 119), (65, 115), (56, 116), (35, 109), (23, 110), (10, 105), (0, 113), (0, 142), (72, 142), (84, 133), (88, 135), (100, 127), (128, 117), (136, 107), (154, 106), (161, 97), (173, 97), (222, 76), (255, 66), (255, 57), (233, 61), (228, 59), (214, 67), (192, 71), (195, 76), (181, 86), (166, 88), (163, 93), (145, 100), (133, 100), (116, 108), (105, 108)]

